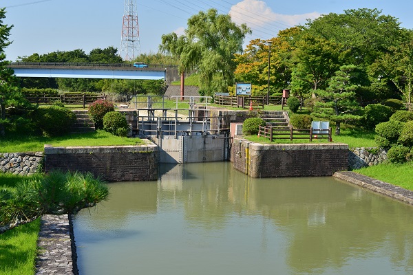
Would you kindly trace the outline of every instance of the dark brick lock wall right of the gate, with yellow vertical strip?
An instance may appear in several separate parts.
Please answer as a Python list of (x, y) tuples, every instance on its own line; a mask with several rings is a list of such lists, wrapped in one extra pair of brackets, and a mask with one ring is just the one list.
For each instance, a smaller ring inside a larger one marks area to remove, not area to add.
[(257, 144), (235, 138), (231, 162), (251, 177), (318, 177), (347, 170), (348, 153), (347, 144)]

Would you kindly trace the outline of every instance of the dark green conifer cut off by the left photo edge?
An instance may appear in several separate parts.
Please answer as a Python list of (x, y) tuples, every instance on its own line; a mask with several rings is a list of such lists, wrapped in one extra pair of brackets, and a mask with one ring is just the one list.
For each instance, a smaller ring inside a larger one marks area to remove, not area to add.
[(0, 136), (6, 134), (5, 126), (8, 122), (6, 108), (11, 105), (19, 104), (23, 98), (19, 91), (19, 80), (14, 76), (12, 69), (8, 67), (9, 61), (6, 61), (4, 50), (10, 41), (10, 30), (13, 25), (5, 25), (3, 19), (6, 18), (6, 8), (0, 9)]

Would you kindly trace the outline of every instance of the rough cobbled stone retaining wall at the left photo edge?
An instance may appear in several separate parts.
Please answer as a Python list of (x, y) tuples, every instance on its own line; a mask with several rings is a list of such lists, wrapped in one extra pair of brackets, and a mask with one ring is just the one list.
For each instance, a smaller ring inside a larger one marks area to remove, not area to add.
[(32, 175), (41, 167), (43, 152), (0, 153), (0, 172)]

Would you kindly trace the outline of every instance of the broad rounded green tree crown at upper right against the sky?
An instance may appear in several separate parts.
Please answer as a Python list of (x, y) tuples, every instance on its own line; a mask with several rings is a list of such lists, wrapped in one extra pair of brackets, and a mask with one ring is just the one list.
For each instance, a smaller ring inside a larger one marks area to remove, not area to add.
[(346, 52), (346, 63), (361, 69), (374, 63), (389, 46), (408, 39), (398, 19), (368, 8), (344, 10), (342, 14), (330, 13), (309, 20), (306, 32), (339, 43)]

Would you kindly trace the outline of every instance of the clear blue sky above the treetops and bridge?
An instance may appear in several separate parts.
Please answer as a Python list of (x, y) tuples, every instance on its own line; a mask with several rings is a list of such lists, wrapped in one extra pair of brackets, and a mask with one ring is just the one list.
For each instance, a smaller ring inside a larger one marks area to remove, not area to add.
[[(58, 50), (81, 49), (87, 54), (98, 47), (119, 50), (124, 5), (125, 0), (1, 0), (0, 7), (7, 12), (3, 23), (14, 25), (7, 59)], [(137, 5), (140, 50), (147, 54), (158, 52), (162, 34), (182, 34), (191, 15), (209, 8), (247, 23), (253, 34), (244, 45), (251, 39), (277, 36), (279, 30), (307, 18), (357, 8), (377, 8), (413, 29), (413, 1), (406, 0), (137, 0)]]

